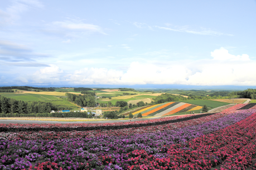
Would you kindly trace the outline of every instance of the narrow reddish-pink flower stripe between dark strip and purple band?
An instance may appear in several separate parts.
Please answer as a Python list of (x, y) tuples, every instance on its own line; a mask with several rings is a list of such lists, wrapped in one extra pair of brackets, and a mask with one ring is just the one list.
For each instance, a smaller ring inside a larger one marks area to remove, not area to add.
[[(212, 114), (211, 116), (201, 117), (197, 119), (191, 119), (189, 121), (183, 122), (176, 122), (176, 123), (168, 123), (168, 124), (161, 124), (157, 126), (147, 126), (147, 127), (140, 127), (140, 128), (124, 128), (124, 129), (116, 129), (116, 130), (98, 130), (98, 131), (73, 131), (73, 132), (1, 132), (0, 139), (8, 139), (9, 141), (15, 140), (24, 140), (24, 139), (31, 139), (35, 140), (37, 138), (42, 139), (60, 139), (61, 137), (65, 138), (78, 138), (78, 137), (94, 137), (94, 136), (129, 136), (135, 134), (143, 134), (148, 132), (155, 132), (155, 131), (165, 131), (166, 129), (176, 129), (176, 128), (183, 128), (187, 126), (194, 126), (196, 124), (205, 123), (209, 121), (214, 121), (215, 119), (224, 117), (228, 114), (226, 113), (216, 113)], [(191, 115), (185, 116), (173, 116), (172, 119), (184, 117), (191, 117)]]

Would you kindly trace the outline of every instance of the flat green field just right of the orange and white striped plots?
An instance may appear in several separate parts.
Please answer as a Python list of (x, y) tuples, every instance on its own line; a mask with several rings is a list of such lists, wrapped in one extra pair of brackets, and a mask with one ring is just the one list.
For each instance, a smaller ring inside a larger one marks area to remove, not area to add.
[(216, 107), (226, 106), (226, 105), (230, 104), (230, 103), (210, 101), (210, 100), (179, 101), (179, 102), (195, 104), (197, 106), (204, 106), (206, 104), (206, 106), (210, 107), (210, 108), (216, 108)]

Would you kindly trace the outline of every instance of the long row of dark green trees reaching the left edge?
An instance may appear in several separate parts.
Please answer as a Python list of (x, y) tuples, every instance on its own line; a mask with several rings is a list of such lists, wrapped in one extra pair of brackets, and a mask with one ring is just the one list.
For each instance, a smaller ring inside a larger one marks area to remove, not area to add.
[(50, 102), (24, 102), (14, 98), (0, 96), (0, 113), (3, 114), (28, 114), (28, 113), (49, 113), (57, 110), (61, 106), (56, 106)]

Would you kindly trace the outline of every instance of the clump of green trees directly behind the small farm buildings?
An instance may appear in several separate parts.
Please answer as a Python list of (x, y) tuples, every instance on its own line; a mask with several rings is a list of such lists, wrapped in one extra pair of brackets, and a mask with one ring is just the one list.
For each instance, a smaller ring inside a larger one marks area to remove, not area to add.
[(67, 96), (67, 101), (78, 104), (80, 107), (94, 107), (96, 105), (94, 96), (91, 94), (87, 95), (76, 95), (73, 93), (65, 93)]

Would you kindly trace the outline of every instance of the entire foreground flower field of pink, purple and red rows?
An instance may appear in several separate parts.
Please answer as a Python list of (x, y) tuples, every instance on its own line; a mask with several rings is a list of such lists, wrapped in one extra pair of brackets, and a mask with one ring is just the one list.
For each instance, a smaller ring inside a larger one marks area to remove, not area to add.
[(255, 143), (248, 104), (125, 123), (0, 124), (0, 169), (256, 169)]

